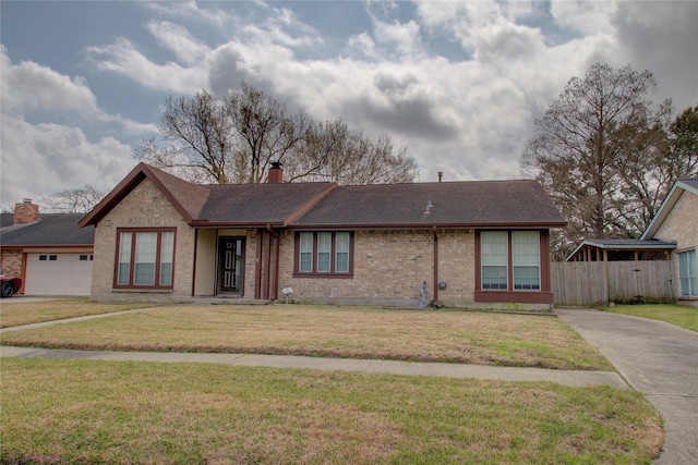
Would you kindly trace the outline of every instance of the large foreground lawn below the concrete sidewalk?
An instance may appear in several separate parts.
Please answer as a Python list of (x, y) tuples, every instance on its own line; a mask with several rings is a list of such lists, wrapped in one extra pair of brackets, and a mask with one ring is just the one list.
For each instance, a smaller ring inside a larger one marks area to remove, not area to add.
[(630, 390), (222, 365), (2, 358), (5, 464), (649, 464)]

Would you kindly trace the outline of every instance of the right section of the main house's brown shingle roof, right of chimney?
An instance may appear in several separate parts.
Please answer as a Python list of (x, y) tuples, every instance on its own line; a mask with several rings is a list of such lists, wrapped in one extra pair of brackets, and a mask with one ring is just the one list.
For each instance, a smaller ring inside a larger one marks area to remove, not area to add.
[(564, 222), (535, 181), (469, 181), (337, 187), (296, 224), (510, 227)]

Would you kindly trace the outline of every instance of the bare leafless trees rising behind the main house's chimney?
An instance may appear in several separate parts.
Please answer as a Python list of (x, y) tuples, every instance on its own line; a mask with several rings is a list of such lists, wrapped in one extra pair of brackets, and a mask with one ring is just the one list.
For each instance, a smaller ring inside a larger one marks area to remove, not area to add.
[(406, 148), (388, 135), (372, 140), (341, 120), (317, 124), (302, 112), (243, 84), (216, 100), (206, 90), (169, 97), (158, 126), (164, 136), (144, 139), (134, 157), (192, 182), (261, 183), (272, 162), (293, 181), (341, 184), (412, 182), (419, 172)]

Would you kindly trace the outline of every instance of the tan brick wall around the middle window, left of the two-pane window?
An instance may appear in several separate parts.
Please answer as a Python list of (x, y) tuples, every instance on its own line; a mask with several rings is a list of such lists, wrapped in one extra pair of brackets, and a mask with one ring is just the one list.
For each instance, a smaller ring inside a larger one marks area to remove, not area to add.
[[(292, 232), (281, 236), (279, 286), (293, 289), (299, 301), (404, 301), (413, 305), (426, 281), (428, 301), (433, 299), (434, 237), (432, 231), (357, 231), (353, 279), (293, 278)], [(470, 231), (438, 232), (438, 292), (444, 304), (471, 303), (474, 286), (474, 234)]]

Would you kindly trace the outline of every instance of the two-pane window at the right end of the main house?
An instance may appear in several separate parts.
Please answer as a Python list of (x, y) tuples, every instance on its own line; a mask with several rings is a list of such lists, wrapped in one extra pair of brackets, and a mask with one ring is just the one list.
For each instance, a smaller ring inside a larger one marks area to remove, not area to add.
[(540, 259), (539, 231), (483, 231), (480, 233), (480, 287), (540, 291)]

